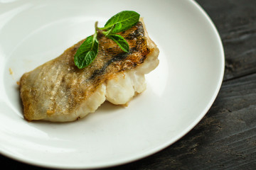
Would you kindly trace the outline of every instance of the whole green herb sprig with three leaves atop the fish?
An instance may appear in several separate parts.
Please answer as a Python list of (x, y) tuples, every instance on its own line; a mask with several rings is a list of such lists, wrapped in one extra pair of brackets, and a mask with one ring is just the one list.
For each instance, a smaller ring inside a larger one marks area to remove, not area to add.
[(119, 45), (124, 52), (129, 52), (129, 45), (120, 33), (135, 26), (139, 22), (139, 13), (135, 11), (121, 11), (112, 16), (103, 28), (97, 27), (95, 23), (95, 33), (90, 35), (82, 42), (74, 56), (75, 65), (79, 68), (85, 68), (90, 65), (95, 57), (97, 57), (99, 42), (97, 41), (97, 33), (102, 33)]

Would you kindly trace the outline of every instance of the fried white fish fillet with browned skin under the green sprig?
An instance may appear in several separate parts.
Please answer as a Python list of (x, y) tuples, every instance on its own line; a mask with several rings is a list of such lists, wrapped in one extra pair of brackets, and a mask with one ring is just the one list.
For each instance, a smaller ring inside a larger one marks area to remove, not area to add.
[(159, 49), (149, 38), (142, 19), (122, 35), (129, 52), (105, 36), (97, 35), (99, 52), (85, 69), (74, 64), (84, 40), (62, 55), (23, 74), (20, 95), (26, 120), (66, 122), (93, 113), (104, 102), (127, 104), (146, 88), (144, 74), (159, 64)]

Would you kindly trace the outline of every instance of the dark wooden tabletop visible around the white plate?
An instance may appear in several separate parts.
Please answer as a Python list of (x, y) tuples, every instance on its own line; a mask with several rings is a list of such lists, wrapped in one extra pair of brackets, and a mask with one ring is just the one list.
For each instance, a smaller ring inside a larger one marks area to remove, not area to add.
[[(198, 0), (218, 28), (225, 77), (206, 116), (174, 145), (107, 170), (256, 169), (256, 0)], [(43, 168), (0, 156), (1, 167)]]

